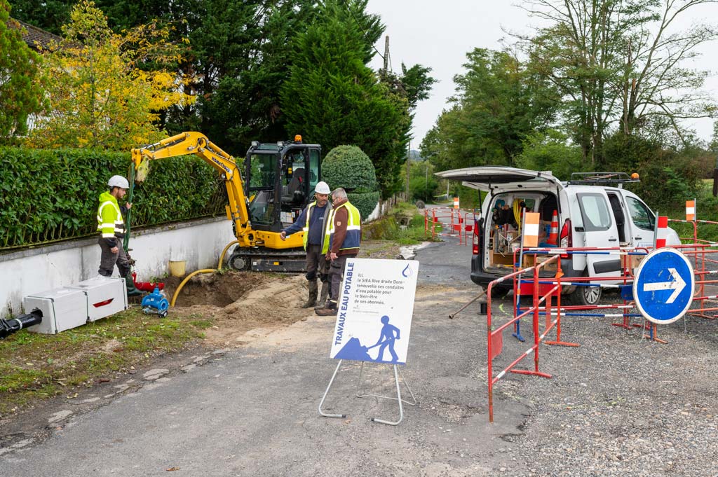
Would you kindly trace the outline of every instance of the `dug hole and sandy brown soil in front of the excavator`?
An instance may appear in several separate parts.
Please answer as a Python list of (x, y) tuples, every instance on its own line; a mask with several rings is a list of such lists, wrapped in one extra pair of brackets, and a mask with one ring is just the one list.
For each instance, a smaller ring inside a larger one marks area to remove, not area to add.
[[(182, 278), (165, 280), (172, 298)], [(304, 275), (277, 276), (255, 272), (205, 273), (188, 281), (170, 313), (210, 318), (205, 329), (209, 346), (241, 346), (274, 329), (307, 319), (314, 308), (300, 308), (307, 300)]]

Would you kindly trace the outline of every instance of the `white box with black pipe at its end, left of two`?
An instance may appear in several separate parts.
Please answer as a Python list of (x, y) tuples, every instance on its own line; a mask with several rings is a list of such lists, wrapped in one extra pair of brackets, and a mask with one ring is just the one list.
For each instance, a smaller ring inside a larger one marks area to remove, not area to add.
[(35, 333), (57, 334), (88, 321), (87, 297), (72, 288), (55, 288), (26, 296), (22, 298), (22, 306), (27, 313), (35, 308), (42, 311), (42, 323), (28, 328)]

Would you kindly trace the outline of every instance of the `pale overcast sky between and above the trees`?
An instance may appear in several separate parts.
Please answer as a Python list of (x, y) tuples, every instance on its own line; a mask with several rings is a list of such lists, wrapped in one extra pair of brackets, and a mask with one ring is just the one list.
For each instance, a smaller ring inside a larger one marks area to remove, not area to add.
[[(414, 139), (411, 148), (419, 148), (421, 139), (434, 126), (447, 98), (454, 94), (452, 78), (462, 70), (466, 53), (475, 47), (500, 49), (501, 39), (511, 42), (503, 32), (531, 32), (538, 19), (510, 0), (369, 0), (367, 10), (379, 14), (389, 36), (389, 52), (394, 72), (401, 72), (401, 62), (407, 67), (419, 63), (432, 68), (432, 76), (439, 80), (431, 97), (419, 103), (414, 118)], [(718, 22), (718, 5), (702, 5), (689, 11), (679, 27), (686, 28), (696, 21), (712, 19)], [(376, 49), (383, 55), (384, 39)], [(697, 67), (712, 70), (705, 90), (718, 98), (718, 42), (701, 46), (703, 54)], [(379, 68), (383, 60), (376, 55), (372, 67)], [(698, 136), (710, 140), (713, 121), (710, 119), (686, 123), (696, 129)]]

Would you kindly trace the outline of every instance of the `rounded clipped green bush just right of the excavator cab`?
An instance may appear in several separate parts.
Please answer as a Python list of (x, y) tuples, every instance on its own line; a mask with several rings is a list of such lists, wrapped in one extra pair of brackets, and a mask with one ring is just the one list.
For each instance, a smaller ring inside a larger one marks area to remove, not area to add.
[(343, 187), (365, 220), (379, 202), (376, 173), (369, 156), (357, 146), (337, 146), (322, 161), (322, 178), (332, 190)]

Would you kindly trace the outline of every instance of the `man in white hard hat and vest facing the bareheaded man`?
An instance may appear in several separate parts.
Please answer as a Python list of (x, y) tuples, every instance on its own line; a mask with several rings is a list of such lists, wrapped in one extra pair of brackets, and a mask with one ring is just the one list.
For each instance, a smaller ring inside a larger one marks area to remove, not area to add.
[[(322, 245), (325, 240), (325, 224), (327, 217), (332, 210), (329, 202), (330, 189), (326, 182), (317, 182), (314, 187), (314, 202), (311, 202), (302, 210), (297, 220), (292, 225), (282, 229), (279, 236), (285, 240), (299, 230), (304, 230), (304, 250), (307, 250), (307, 280), (309, 281), (309, 299), (302, 308), (324, 308), (329, 295), (329, 268), (322, 253)], [(322, 282), (322, 293), (319, 293), (317, 278)], [(319, 295), (319, 301), (317, 301)]]

